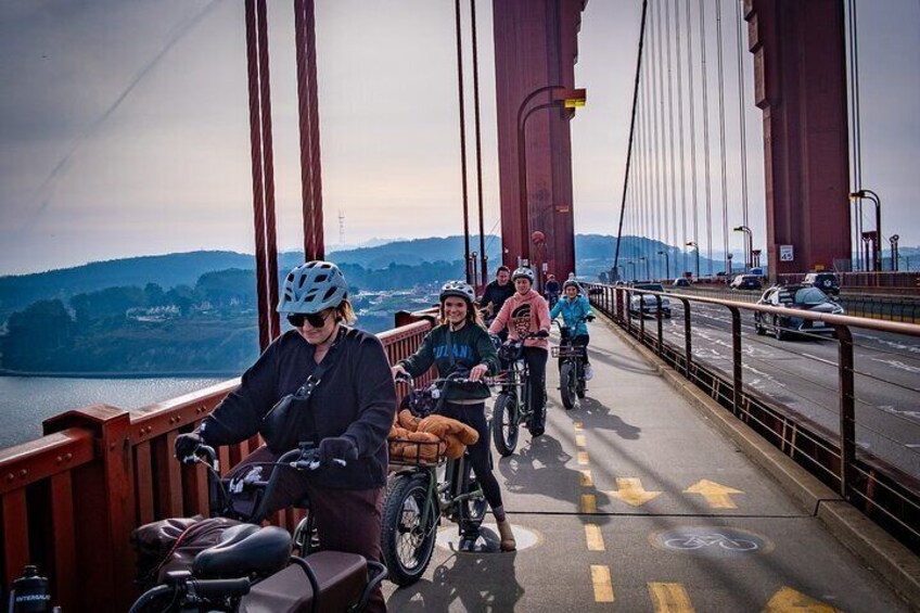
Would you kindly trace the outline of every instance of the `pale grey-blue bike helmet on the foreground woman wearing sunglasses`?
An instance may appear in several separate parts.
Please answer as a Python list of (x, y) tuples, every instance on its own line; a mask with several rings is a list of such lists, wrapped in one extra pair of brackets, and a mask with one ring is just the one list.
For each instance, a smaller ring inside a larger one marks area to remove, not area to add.
[(310, 315), (337, 307), (347, 297), (348, 283), (337, 266), (331, 261), (308, 261), (284, 278), (278, 312)]

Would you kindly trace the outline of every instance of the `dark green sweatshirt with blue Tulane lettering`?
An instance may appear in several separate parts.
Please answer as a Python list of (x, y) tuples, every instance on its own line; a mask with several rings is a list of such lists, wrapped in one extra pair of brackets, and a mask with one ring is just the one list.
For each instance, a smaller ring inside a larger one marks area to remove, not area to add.
[[(470, 321), (453, 332), (449, 324), (442, 323), (429, 332), (414, 355), (399, 363), (413, 378), (424, 374), (432, 365), (437, 367), (437, 374), (442, 378), (455, 369), (470, 370), (478, 363), (487, 366), (489, 374), (498, 372), (498, 356), (488, 332)], [(451, 385), (447, 391), (448, 400), (472, 400), (489, 396), (489, 388), (485, 385)]]

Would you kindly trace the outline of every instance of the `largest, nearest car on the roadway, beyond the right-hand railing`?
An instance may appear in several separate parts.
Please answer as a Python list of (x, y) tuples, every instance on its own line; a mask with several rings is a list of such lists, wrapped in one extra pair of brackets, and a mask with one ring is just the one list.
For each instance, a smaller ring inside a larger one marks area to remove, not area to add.
[(763, 335), (767, 331), (771, 331), (777, 341), (782, 341), (793, 334), (834, 334), (832, 325), (828, 325), (823, 321), (812, 321), (797, 317), (796, 312), (807, 310), (844, 315), (842, 306), (812, 285), (774, 285), (764, 292), (757, 304), (789, 309), (789, 315), (754, 312), (754, 329), (757, 334)]

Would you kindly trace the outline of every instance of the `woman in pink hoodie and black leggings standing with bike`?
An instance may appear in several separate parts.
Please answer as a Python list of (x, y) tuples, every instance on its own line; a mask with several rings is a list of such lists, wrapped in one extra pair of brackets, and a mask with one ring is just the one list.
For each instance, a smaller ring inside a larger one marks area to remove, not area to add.
[[(534, 271), (529, 268), (519, 268), (511, 276), (515, 293), (504, 302), (495, 321), (489, 325), (491, 334), (508, 330), (510, 339), (520, 339), (527, 334), (545, 332), (549, 334), (549, 306), (541, 295), (533, 289)], [(527, 429), (533, 436), (539, 436), (546, 429), (542, 411), (546, 401), (546, 362), (549, 357), (549, 341), (544, 339), (527, 339), (524, 341), (524, 361), (531, 372), (531, 414), (536, 423)]]

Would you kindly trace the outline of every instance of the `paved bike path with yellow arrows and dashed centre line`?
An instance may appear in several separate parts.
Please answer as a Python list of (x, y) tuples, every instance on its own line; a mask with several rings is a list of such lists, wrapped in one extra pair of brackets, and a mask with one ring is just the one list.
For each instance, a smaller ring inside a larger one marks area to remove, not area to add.
[(589, 355), (588, 397), (565, 411), (550, 360), (547, 433), (495, 454), (535, 544), (460, 553), (445, 523), (424, 578), (386, 585), (392, 611), (910, 610), (601, 322)]

